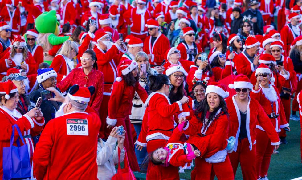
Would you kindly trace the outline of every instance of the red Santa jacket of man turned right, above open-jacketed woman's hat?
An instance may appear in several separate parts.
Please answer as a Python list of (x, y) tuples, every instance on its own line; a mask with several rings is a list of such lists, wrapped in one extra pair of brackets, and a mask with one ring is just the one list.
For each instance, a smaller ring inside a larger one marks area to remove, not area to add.
[(233, 61), (238, 74), (244, 74), (250, 78), (252, 73), (255, 71), (253, 62), (247, 58), (244, 52), (234, 57)]

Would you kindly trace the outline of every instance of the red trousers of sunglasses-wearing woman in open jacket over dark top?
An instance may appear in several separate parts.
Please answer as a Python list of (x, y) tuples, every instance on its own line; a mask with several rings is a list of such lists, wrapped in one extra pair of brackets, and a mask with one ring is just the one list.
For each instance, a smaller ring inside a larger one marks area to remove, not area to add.
[(233, 167), (234, 176), (237, 171), (238, 163), (240, 162), (243, 179), (256, 180), (256, 144), (253, 145), (250, 151), (250, 143), (247, 138), (238, 140), (237, 151), (229, 154), (231, 165)]

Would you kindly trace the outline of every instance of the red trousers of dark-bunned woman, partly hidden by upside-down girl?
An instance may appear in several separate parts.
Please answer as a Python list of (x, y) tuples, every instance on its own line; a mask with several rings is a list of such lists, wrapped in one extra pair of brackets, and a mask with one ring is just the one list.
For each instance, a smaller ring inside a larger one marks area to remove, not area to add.
[[(159, 147), (165, 147), (167, 140), (154, 139), (147, 142), (147, 152), (151, 153)], [(146, 180), (179, 180), (178, 167), (148, 164)]]

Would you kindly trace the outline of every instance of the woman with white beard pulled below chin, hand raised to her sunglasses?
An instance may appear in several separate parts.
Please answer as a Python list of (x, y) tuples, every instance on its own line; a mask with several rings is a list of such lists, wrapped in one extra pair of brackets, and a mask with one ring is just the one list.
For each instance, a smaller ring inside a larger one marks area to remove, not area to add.
[[(280, 132), (280, 128), (289, 129), (289, 125), (285, 119), (284, 108), (280, 101), (280, 96), (278, 89), (269, 84), (271, 79), (271, 70), (265, 64), (260, 64), (256, 69), (257, 83), (251, 92), (251, 98), (259, 101), (259, 104), (264, 109), (265, 113), (271, 119), (275, 130)], [(260, 92), (261, 91), (261, 92)], [(257, 130), (257, 157), (256, 157), (256, 167), (257, 176), (261, 178), (267, 177), (267, 171), (271, 161), (271, 154), (274, 147), (271, 146), (271, 140), (268, 138), (267, 133), (263, 129), (262, 125), (256, 126)]]

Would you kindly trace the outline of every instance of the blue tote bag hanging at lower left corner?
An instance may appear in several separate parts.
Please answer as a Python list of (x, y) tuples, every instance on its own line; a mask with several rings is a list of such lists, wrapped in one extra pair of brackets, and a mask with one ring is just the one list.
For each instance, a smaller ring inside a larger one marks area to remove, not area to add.
[[(26, 179), (31, 177), (31, 162), (27, 144), (17, 124), (12, 126), (13, 132), (10, 138), (10, 146), (3, 147), (3, 179)], [(17, 147), (13, 146), (15, 128), (18, 131)], [(20, 139), (23, 146), (20, 145)]]

